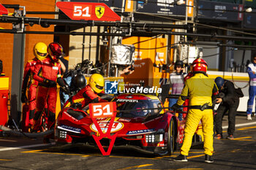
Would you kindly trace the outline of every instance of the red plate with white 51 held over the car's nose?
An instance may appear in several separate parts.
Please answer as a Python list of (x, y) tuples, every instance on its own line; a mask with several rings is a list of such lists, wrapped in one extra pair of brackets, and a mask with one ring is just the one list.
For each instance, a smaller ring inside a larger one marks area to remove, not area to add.
[(116, 102), (89, 104), (91, 118), (113, 117), (116, 115)]

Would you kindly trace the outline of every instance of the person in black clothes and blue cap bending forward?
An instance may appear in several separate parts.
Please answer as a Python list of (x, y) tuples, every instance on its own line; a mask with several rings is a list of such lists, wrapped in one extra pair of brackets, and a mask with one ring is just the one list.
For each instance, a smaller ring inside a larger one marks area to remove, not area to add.
[(222, 139), (222, 118), (225, 112), (228, 110), (228, 128), (227, 128), (227, 138), (234, 139), (234, 131), (236, 125), (236, 109), (239, 105), (239, 96), (236, 94), (236, 89), (233, 82), (229, 80), (224, 80), (222, 77), (217, 77), (215, 83), (219, 88), (219, 93), (224, 93), (225, 96), (222, 98), (217, 98), (217, 103), (219, 107), (217, 109), (217, 115), (214, 116), (215, 130), (217, 135), (214, 136), (215, 139)]

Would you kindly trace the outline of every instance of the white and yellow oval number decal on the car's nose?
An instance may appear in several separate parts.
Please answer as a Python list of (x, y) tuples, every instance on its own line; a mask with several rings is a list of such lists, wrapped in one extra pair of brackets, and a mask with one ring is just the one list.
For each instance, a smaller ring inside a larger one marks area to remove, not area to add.
[[(109, 125), (110, 122), (109, 121), (99, 121), (98, 123), (99, 123), (99, 128), (102, 129), (102, 132), (106, 133), (108, 131), (108, 125)], [(98, 130), (96, 128), (96, 125), (94, 125), (94, 123), (92, 123), (90, 125), (90, 128), (91, 128), (91, 131), (98, 132)], [(121, 123), (121, 122), (116, 122), (115, 121), (112, 125), (110, 133), (120, 131), (122, 128), (124, 128), (124, 124)]]

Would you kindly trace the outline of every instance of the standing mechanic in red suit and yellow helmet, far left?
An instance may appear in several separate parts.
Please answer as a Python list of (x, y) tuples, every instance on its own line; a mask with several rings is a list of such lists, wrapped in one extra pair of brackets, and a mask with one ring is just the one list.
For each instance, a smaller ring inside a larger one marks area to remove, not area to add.
[[(33, 117), (36, 109), (36, 96), (37, 96), (37, 85), (38, 82), (33, 79), (34, 66), (37, 61), (42, 61), (47, 55), (47, 45), (43, 42), (37, 42), (34, 45), (34, 56), (31, 61), (26, 63), (24, 74), (23, 74), (23, 82), (22, 82), (22, 90), (21, 90), (21, 102), (29, 103), (29, 126), (33, 125)], [(28, 97), (26, 96), (26, 91), (28, 90)], [(24, 121), (24, 120), (23, 120)], [(28, 128), (30, 128), (28, 127)]]

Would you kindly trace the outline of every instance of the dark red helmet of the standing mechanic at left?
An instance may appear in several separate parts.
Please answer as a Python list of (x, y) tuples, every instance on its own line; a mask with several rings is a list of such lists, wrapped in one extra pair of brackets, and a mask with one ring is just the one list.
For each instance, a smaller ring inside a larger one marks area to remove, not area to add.
[(48, 45), (48, 54), (54, 62), (57, 62), (63, 54), (63, 47), (57, 42), (51, 42), (50, 45)]

